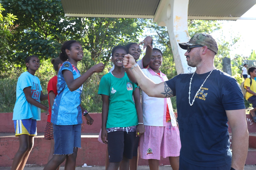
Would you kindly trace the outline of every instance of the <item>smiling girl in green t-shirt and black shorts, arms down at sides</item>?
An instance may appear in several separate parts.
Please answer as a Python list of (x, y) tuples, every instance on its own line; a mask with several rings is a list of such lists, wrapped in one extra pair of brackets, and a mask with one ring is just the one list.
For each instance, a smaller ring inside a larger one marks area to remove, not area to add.
[(138, 147), (134, 146), (135, 138), (145, 132), (140, 90), (124, 72), (123, 57), (127, 53), (124, 46), (112, 49), (115, 67), (101, 78), (98, 92), (102, 96), (101, 140), (108, 144), (108, 170), (117, 170), (119, 166), (120, 170), (129, 170), (133, 150), (137, 152)]

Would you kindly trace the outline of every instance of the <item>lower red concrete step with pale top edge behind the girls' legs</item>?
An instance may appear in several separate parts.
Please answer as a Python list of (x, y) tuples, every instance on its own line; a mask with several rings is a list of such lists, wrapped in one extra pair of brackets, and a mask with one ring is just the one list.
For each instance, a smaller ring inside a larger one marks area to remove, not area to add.
[[(13, 158), (19, 147), (18, 137), (10, 133), (0, 134), (0, 165), (2, 167), (10, 167)], [(98, 141), (97, 133), (82, 133), (81, 149), (78, 149), (76, 165), (81, 166), (84, 163), (88, 165), (104, 166), (106, 159), (107, 145)], [(50, 152), (50, 141), (45, 140), (43, 134), (38, 134), (34, 139), (34, 147), (29, 155), (27, 164), (44, 166)], [(61, 164), (65, 165), (65, 162)], [(148, 165), (148, 161), (139, 158), (138, 165)], [(159, 165), (169, 165), (169, 159), (161, 158)]]

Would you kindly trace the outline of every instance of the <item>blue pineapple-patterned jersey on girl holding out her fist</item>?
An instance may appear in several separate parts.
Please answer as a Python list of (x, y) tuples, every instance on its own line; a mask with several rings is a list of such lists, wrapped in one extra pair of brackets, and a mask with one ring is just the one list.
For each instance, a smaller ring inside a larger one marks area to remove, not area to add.
[(81, 93), (83, 85), (77, 90), (70, 91), (62, 74), (63, 70), (73, 73), (74, 79), (80, 76), (80, 71), (66, 61), (62, 64), (58, 73), (58, 95), (54, 99), (51, 111), (51, 123), (55, 125), (76, 125), (82, 123)]

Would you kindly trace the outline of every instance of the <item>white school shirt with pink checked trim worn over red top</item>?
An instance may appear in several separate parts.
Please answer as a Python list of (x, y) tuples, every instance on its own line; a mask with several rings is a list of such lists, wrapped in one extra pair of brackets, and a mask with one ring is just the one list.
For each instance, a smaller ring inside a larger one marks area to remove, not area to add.
[[(150, 80), (157, 84), (168, 80), (166, 75), (160, 70), (160, 76), (156, 74), (151, 68), (142, 69), (142, 72)], [(144, 91), (142, 91), (141, 97), (144, 125), (166, 126), (166, 104), (168, 104), (172, 126), (177, 126), (170, 98), (149, 97)]]

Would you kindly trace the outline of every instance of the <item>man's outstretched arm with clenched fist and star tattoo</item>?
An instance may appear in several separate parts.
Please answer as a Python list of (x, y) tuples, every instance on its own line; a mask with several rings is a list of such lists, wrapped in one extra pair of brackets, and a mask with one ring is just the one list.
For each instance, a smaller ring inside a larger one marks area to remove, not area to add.
[(138, 85), (148, 96), (161, 98), (173, 97), (173, 91), (168, 85), (165, 82), (156, 84), (148, 79), (130, 54), (125, 55), (123, 64), (125, 68), (131, 68)]

